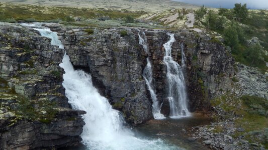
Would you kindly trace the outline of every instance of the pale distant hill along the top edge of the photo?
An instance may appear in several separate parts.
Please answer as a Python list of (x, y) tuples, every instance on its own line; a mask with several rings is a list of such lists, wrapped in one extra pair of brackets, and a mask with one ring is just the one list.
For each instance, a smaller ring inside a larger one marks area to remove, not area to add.
[(172, 8), (194, 8), (197, 5), (171, 0), (1, 0), (19, 4), (71, 6), (89, 8), (118, 8), (128, 10), (159, 11)]

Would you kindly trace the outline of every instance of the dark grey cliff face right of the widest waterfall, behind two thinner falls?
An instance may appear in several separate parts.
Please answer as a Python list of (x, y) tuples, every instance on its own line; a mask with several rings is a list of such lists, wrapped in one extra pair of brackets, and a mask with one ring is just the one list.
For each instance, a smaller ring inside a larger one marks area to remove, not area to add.
[[(94, 29), (54, 28), (76, 68), (91, 73), (95, 86), (107, 97), (114, 108), (122, 110), (125, 118), (135, 124), (152, 118), (152, 100), (147, 91), (142, 71), (149, 56), (157, 98), (168, 115), (166, 100), (166, 66), (163, 62), (163, 44), (169, 36), (165, 30), (137, 28)], [(138, 42), (138, 32), (147, 37), (149, 54)], [(124, 31), (127, 34), (123, 34)], [(172, 56), (181, 64), (182, 44), (187, 57), (185, 72), (191, 111), (208, 110), (213, 98), (232, 86), (234, 60), (221, 43), (221, 39), (190, 30), (175, 31)]]

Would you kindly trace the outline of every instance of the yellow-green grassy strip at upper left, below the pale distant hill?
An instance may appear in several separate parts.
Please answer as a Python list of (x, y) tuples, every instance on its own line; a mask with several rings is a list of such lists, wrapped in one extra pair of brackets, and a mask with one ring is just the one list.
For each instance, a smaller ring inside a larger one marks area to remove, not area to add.
[(94, 9), (94, 8), (75, 8), (60, 6), (40, 6), (27, 4), (5, 3), (0, 6), (2, 12), (0, 19), (24, 20), (27, 22), (44, 21), (44, 20), (65, 20), (68, 16), (77, 16), (85, 19), (109, 16), (110, 18), (125, 18), (129, 15), (137, 18), (147, 12), (145, 11), (127, 11), (117, 9)]

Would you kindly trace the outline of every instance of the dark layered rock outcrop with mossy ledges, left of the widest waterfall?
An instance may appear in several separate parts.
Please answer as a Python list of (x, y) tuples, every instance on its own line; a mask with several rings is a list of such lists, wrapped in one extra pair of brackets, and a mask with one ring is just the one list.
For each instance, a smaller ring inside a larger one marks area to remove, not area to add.
[(0, 149), (79, 144), (84, 125), (67, 103), (64, 50), (33, 29), (0, 22)]

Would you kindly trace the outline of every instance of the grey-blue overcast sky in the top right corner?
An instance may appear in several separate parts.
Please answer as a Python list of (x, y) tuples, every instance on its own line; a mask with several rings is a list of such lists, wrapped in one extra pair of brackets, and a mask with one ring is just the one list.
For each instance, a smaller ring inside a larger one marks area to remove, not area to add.
[(210, 7), (233, 8), (235, 3), (246, 3), (248, 8), (268, 9), (268, 0), (174, 0)]

